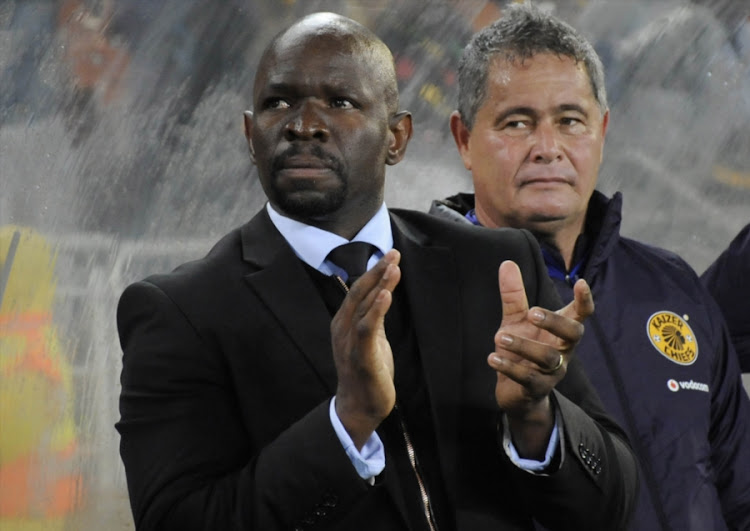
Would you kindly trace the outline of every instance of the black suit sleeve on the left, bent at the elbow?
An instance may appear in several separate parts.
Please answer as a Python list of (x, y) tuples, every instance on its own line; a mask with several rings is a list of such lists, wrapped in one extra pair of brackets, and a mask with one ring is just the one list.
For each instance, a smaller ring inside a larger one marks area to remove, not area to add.
[(117, 318), (124, 355), (116, 427), (138, 530), (306, 529), (377, 489), (346, 456), (328, 400), (251, 446), (238, 382), (156, 285), (130, 286)]

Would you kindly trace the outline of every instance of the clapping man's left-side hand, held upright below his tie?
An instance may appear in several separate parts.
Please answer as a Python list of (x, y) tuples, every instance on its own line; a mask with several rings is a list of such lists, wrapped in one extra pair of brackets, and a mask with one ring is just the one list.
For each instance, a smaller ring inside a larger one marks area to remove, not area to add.
[(358, 450), (396, 404), (384, 320), (401, 280), (400, 260), (397, 250), (388, 251), (354, 283), (331, 321), (336, 414)]

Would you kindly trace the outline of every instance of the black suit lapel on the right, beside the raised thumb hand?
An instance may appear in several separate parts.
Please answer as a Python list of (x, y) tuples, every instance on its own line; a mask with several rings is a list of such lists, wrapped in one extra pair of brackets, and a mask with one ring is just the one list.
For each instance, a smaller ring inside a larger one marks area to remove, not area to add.
[(455, 257), (395, 216), (394, 246), (401, 252), (402, 280), (412, 312), (427, 383), (446, 487), (455, 499), (458, 404), (461, 396), (462, 331)]

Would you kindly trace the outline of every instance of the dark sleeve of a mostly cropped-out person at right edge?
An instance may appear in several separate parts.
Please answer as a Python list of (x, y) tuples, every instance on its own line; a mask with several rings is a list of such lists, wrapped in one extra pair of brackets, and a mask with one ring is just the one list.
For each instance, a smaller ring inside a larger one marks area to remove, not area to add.
[(742, 372), (750, 372), (750, 224), (706, 269), (701, 281), (724, 314)]

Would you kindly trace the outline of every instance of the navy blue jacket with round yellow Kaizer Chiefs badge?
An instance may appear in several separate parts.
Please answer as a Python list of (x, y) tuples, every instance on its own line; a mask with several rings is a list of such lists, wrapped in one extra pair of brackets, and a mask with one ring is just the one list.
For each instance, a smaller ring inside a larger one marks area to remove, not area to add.
[[(596, 311), (577, 355), (641, 460), (631, 528), (750, 529), (750, 400), (721, 312), (681, 258), (620, 236), (621, 205), (619, 193), (589, 203), (578, 273)], [(463, 222), (473, 206), (460, 194), (430, 211)], [(544, 254), (569, 302), (578, 277)]]

